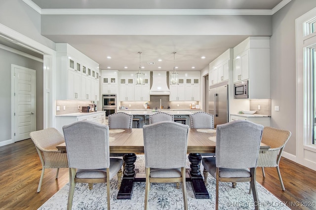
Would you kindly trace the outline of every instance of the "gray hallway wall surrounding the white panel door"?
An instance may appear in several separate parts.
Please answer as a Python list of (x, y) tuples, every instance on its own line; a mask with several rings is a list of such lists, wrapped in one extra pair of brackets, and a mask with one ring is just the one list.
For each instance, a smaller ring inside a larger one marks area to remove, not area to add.
[(11, 64), (36, 70), (36, 129), (43, 129), (43, 64), (0, 49), (0, 141), (11, 140)]

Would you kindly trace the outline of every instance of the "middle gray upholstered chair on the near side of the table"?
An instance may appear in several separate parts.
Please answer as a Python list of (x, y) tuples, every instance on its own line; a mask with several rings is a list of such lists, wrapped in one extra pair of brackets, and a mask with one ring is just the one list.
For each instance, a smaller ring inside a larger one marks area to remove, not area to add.
[(184, 209), (188, 209), (186, 188), (188, 130), (188, 125), (173, 121), (144, 125), (145, 210), (151, 182), (182, 182)]

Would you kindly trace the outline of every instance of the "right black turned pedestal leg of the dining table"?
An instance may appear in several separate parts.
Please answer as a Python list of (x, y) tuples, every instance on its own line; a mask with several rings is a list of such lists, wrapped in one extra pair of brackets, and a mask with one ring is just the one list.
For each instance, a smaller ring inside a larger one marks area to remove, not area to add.
[(190, 153), (189, 161), (190, 165), (190, 179), (192, 183), (192, 188), (196, 199), (209, 199), (209, 194), (206, 190), (203, 177), (200, 172), (202, 156), (200, 153)]

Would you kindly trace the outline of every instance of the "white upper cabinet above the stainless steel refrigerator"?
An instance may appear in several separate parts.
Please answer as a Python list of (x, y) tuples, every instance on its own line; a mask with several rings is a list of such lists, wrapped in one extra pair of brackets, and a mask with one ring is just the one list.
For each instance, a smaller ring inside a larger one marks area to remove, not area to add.
[(229, 80), (231, 55), (233, 55), (233, 49), (228, 49), (209, 64), (210, 86)]

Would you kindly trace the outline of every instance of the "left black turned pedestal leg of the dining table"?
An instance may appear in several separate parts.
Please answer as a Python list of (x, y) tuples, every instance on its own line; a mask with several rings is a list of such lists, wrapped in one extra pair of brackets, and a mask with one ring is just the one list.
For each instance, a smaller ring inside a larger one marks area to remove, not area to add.
[(118, 191), (118, 199), (131, 199), (134, 178), (135, 178), (135, 153), (129, 153), (123, 155), (123, 160), (125, 163), (125, 170), (123, 172), (122, 182)]

